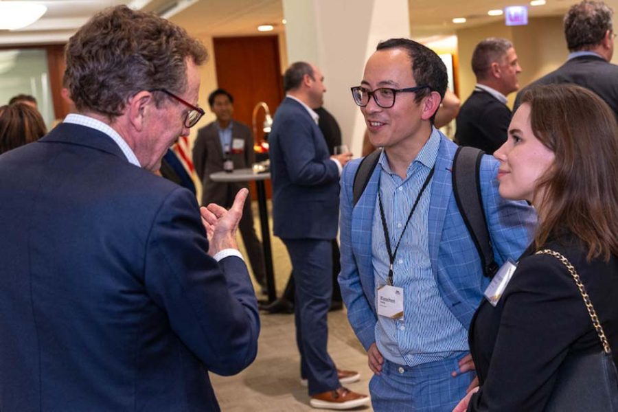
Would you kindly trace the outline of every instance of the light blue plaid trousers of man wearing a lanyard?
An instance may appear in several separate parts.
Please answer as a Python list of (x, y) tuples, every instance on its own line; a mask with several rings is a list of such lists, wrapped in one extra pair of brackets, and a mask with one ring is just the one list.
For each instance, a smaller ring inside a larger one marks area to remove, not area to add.
[(453, 378), (459, 371), (457, 361), (465, 354), (408, 367), (387, 360), (382, 373), (369, 382), (371, 404), (376, 412), (451, 412), (466, 395), (474, 371)]

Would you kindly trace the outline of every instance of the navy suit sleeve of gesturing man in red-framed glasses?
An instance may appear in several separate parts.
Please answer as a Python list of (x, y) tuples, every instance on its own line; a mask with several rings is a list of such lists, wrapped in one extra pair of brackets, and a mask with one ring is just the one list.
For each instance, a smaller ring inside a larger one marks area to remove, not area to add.
[(258, 303), (244, 262), (233, 256), (216, 262), (207, 250), (194, 196), (174, 190), (146, 244), (146, 289), (207, 369), (236, 374), (258, 351)]

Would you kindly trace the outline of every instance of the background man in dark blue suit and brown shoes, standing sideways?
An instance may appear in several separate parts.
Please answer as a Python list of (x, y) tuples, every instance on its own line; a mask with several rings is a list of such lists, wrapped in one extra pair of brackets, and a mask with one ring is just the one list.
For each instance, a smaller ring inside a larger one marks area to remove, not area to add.
[[(328, 355), (326, 315), (332, 296), (331, 242), (339, 219), (339, 174), (352, 153), (330, 156), (311, 107), (323, 103), (323, 76), (306, 62), (284, 74), (286, 98), (277, 108), (270, 142), (274, 233), (292, 261), (295, 322), (301, 378), (312, 407), (350, 409), (369, 403), (341, 383), (355, 382), (354, 371), (338, 371)], [(341, 380), (341, 382), (340, 382)]]

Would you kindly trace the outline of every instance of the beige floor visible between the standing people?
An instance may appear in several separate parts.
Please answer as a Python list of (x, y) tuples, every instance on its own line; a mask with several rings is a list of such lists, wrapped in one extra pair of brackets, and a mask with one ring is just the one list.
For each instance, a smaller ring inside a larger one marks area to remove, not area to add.
[[(255, 227), (260, 236), (257, 205), (253, 203)], [(270, 204), (268, 209), (270, 210)], [(272, 221), (271, 228), (272, 228)], [(272, 232), (271, 232), (272, 233)], [(284, 244), (271, 237), (273, 266), (277, 295), (285, 287), (291, 265)], [(242, 244), (239, 236), (239, 244)], [(244, 253), (241, 246), (241, 252)], [(309, 406), (306, 387), (300, 385), (299, 354), (296, 347), (294, 317), (291, 314), (262, 315), (262, 332), (258, 357), (253, 364), (236, 376), (211, 374), (221, 410), (245, 411), (315, 411)], [(347, 323), (345, 309), (330, 312), (328, 316), (328, 352), (341, 369), (361, 372), (361, 380), (347, 385), (353, 391), (369, 393), (367, 385), (371, 371), (367, 366), (365, 350)], [(372, 411), (361, 407), (358, 411)]]

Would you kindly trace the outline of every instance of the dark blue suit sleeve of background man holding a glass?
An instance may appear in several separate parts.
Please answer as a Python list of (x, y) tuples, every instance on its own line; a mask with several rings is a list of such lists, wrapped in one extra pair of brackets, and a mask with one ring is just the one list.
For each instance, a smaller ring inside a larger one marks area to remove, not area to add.
[[(279, 145), (286, 163), (290, 181), (295, 185), (323, 185), (339, 179), (336, 163), (316, 155), (314, 130), (310, 122), (301, 122), (297, 118), (287, 118), (279, 128)], [(317, 136), (323, 139), (321, 136)], [(323, 143), (323, 142), (322, 142)], [(325, 145), (325, 143), (323, 143)]]

